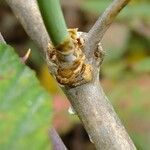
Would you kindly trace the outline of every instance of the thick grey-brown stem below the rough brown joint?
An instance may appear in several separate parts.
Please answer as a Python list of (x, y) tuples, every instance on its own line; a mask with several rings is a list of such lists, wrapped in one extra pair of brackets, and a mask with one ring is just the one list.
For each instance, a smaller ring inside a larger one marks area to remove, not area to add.
[(64, 92), (97, 150), (136, 150), (105, 96), (99, 77), (92, 83), (64, 89)]

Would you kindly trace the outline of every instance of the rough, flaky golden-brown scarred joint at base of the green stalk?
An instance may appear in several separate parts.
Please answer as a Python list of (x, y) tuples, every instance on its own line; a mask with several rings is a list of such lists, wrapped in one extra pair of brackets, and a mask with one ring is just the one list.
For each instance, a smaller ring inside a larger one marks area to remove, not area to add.
[[(86, 61), (82, 51), (84, 40), (79, 36), (77, 29), (69, 29), (68, 32), (74, 45), (73, 49), (70, 47), (67, 49), (65, 44), (54, 48), (49, 43), (46, 58), (49, 68), (52, 70), (51, 74), (61, 85), (76, 87), (92, 80), (92, 66)], [(74, 58), (69, 58), (70, 56), (74, 56)]]

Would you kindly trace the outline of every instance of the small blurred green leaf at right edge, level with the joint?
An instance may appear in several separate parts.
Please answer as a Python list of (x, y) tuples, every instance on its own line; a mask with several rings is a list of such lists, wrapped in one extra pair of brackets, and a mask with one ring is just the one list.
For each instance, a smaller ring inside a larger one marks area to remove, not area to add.
[(139, 73), (150, 72), (150, 57), (138, 61), (133, 66), (133, 70)]

